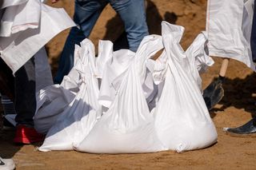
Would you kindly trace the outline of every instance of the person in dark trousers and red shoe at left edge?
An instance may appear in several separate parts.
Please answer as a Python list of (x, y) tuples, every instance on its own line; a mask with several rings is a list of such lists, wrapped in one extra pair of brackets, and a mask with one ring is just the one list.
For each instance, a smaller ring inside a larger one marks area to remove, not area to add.
[(14, 76), (0, 57), (0, 83), (1, 86), (5, 86), (5, 88), (0, 88), (0, 93), (6, 94), (12, 101), (15, 101), (17, 129), (14, 142), (31, 144), (42, 141), (44, 136), (36, 132), (33, 120), (37, 105), (34, 57), (18, 69)]

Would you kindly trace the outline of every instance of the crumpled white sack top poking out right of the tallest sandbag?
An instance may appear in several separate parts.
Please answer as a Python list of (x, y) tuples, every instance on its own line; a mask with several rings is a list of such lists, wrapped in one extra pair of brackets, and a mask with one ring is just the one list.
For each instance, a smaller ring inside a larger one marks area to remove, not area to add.
[(206, 72), (209, 66), (214, 65), (214, 60), (209, 56), (206, 34), (198, 34), (194, 42), (186, 49), (186, 56), (190, 61), (190, 69), (194, 80), (202, 92), (202, 79), (199, 73)]

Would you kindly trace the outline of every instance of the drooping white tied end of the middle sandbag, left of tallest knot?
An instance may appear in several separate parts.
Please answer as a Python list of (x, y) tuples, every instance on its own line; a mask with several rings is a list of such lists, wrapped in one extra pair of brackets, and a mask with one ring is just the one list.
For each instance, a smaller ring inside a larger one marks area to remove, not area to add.
[(146, 76), (146, 61), (163, 49), (162, 36), (152, 34), (143, 38), (134, 57), (134, 66), (143, 83)]

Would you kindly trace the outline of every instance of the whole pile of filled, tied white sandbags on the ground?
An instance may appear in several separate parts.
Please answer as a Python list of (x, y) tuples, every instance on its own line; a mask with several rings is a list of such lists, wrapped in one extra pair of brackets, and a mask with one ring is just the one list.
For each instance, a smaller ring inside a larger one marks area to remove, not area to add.
[[(94, 45), (84, 40), (62, 85), (47, 87), (38, 96), (41, 107), (35, 118), (51, 122), (39, 150), (182, 152), (214, 144), (217, 132), (199, 76), (214, 61), (206, 53), (203, 33), (185, 52), (179, 44), (183, 31), (182, 26), (162, 22), (162, 36), (146, 36), (136, 53), (113, 52), (110, 42), (100, 42), (98, 57)], [(160, 50), (161, 56), (151, 59)], [(42, 112), (54, 107), (49, 93), (53, 89), (62, 89), (51, 98), (63, 104), (56, 104), (55, 113)]]

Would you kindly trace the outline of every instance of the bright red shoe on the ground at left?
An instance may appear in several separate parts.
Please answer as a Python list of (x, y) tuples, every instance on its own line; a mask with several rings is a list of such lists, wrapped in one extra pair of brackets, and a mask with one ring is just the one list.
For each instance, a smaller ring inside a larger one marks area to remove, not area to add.
[(34, 128), (27, 127), (26, 125), (17, 126), (14, 143), (32, 144), (42, 140), (44, 140), (44, 136), (38, 133)]

